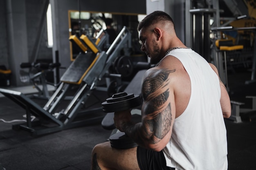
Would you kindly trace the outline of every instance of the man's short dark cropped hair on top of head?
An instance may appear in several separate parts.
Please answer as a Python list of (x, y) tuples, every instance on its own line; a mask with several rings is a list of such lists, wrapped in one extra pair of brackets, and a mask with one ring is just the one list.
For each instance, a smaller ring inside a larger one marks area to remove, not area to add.
[(165, 13), (164, 11), (154, 11), (148, 14), (138, 25), (137, 30), (140, 31), (142, 28), (147, 28), (148, 26), (158, 23), (170, 21), (173, 23), (173, 19)]

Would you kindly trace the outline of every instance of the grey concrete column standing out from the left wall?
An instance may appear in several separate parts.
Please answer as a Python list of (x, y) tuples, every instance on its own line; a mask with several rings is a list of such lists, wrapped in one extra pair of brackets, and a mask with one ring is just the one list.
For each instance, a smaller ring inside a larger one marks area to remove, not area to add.
[(28, 61), (25, 13), (25, 0), (6, 1), (7, 60), (12, 71), (11, 84), (22, 85), (18, 76), (19, 66), (21, 62)]

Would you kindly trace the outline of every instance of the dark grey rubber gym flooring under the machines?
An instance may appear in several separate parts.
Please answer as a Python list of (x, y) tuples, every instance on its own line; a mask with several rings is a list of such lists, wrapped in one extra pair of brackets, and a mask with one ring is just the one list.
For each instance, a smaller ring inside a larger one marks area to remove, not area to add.
[[(239, 71), (229, 75), (230, 97), (246, 102), (245, 96), (256, 96), (256, 84), (245, 85), (250, 73)], [(102, 101), (106, 94), (95, 93)], [(40, 105), (45, 100), (33, 99)], [(94, 106), (97, 106), (94, 105)], [(99, 105), (100, 106), (100, 105)], [(25, 110), (10, 99), (0, 97), (0, 118), (6, 121), (25, 119)], [(256, 113), (245, 114), (242, 123), (225, 119), (228, 139), (229, 170), (256, 169)], [(13, 124), (0, 121), (0, 170), (89, 170), (92, 148), (106, 141), (111, 131), (101, 127), (101, 122), (63, 130), (40, 137), (32, 137), (24, 130), (12, 130)], [(202, 148), (203, 149), (203, 148)]]

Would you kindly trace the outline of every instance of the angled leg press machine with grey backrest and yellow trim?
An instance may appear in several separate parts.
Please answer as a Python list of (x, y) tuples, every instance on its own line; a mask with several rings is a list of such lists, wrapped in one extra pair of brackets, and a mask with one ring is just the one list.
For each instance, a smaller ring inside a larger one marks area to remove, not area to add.
[[(77, 126), (85, 126), (99, 121), (103, 118), (101, 108), (90, 110), (80, 110), (83, 104), (89, 99), (94, 90), (97, 90), (97, 83), (102, 78), (110, 76), (108, 69), (114, 60), (120, 55), (130, 55), (131, 35), (130, 31), (124, 26), (117, 35), (115, 41), (111, 44), (108, 51), (101, 51), (99, 44), (96, 44), (85, 38), (84, 43), (92, 51), (79, 53), (74, 62), (65, 71), (61, 77), (61, 83), (49, 98), (45, 106), (41, 107), (24, 94), (0, 88), (0, 93), (26, 110), (27, 122), (25, 124), (13, 125), (13, 129), (22, 129), (31, 132), (32, 136), (43, 135), (57, 132)], [(77, 86), (78, 90), (70, 100), (69, 104), (59, 112), (56, 112), (58, 106), (67, 95), (67, 91)], [(85, 115), (91, 115), (85, 117)], [(31, 121), (31, 115), (36, 116), (35, 121)], [(85, 119), (76, 119), (83, 115)]]

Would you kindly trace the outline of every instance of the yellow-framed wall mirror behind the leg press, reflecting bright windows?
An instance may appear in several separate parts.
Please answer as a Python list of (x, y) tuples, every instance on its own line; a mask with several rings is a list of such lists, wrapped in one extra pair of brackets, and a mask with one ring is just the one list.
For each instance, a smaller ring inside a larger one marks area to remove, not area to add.
[[(127, 26), (128, 29), (133, 32), (133, 40), (138, 43), (137, 24), (145, 17), (145, 15), (134, 13), (104, 13), (95, 11), (75, 11), (69, 10), (69, 34), (77, 34), (80, 37), (81, 34), (95, 37), (100, 29), (106, 29), (106, 23), (111, 18), (111, 26), (118, 34), (123, 26)], [(79, 22), (80, 21), (80, 22)], [(106, 21), (106, 22), (105, 22)], [(79, 29), (80, 28), (80, 29)], [(110, 33), (109, 33), (110, 34)], [(111, 35), (110, 35), (111, 37)], [(115, 37), (115, 36), (114, 36)], [(111, 39), (111, 38), (110, 38)], [(111, 40), (110, 40), (111, 41)], [(135, 44), (136, 44), (135, 43)], [(137, 49), (136, 49), (137, 48)], [(136, 46), (135, 51), (140, 49), (140, 45)], [(140, 50), (139, 50), (140, 51)], [(70, 59), (73, 61), (78, 55), (79, 51), (72, 47), (70, 42)]]

